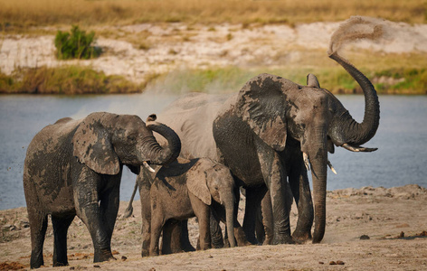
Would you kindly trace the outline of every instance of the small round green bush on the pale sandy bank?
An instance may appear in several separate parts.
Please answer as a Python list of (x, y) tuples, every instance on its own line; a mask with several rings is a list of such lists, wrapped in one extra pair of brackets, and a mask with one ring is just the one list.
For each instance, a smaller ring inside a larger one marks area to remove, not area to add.
[(86, 34), (77, 25), (72, 26), (71, 33), (58, 31), (55, 37), (56, 57), (60, 60), (97, 58), (101, 49), (90, 46), (94, 38), (94, 32)]

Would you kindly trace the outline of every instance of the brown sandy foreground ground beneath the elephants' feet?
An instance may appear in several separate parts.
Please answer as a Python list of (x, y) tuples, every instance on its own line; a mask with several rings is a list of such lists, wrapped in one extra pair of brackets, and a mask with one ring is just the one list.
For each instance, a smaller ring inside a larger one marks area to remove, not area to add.
[[(54, 270), (427, 270), (427, 189), (418, 185), (327, 192), (327, 229), (320, 244), (209, 249), (144, 258), (140, 257), (139, 203), (134, 204), (134, 215), (124, 219), (127, 204), (120, 203), (113, 233), (116, 261), (92, 262), (89, 233), (75, 219), (68, 236), (70, 266)], [(293, 226), (295, 211), (294, 206)], [(11, 266), (29, 269), (31, 245), (25, 208), (0, 210), (0, 221), (0, 270)], [(193, 243), (197, 234), (193, 219)], [(51, 224), (44, 246), (43, 270), (51, 270)]]

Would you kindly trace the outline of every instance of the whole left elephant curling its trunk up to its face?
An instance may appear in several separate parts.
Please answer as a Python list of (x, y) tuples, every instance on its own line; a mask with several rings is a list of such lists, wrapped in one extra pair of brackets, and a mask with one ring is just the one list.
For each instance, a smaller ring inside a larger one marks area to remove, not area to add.
[[(153, 132), (166, 137), (157, 144)], [(31, 229), (31, 267), (43, 266), (43, 241), (50, 214), (53, 266), (68, 265), (67, 230), (77, 215), (90, 231), (94, 262), (113, 259), (110, 241), (119, 209), (123, 164), (138, 173), (143, 162), (169, 164), (179, 137), (137, 116), (92, 113), (62, 118), (34, 136), (24, 162), (24, 192)]]

